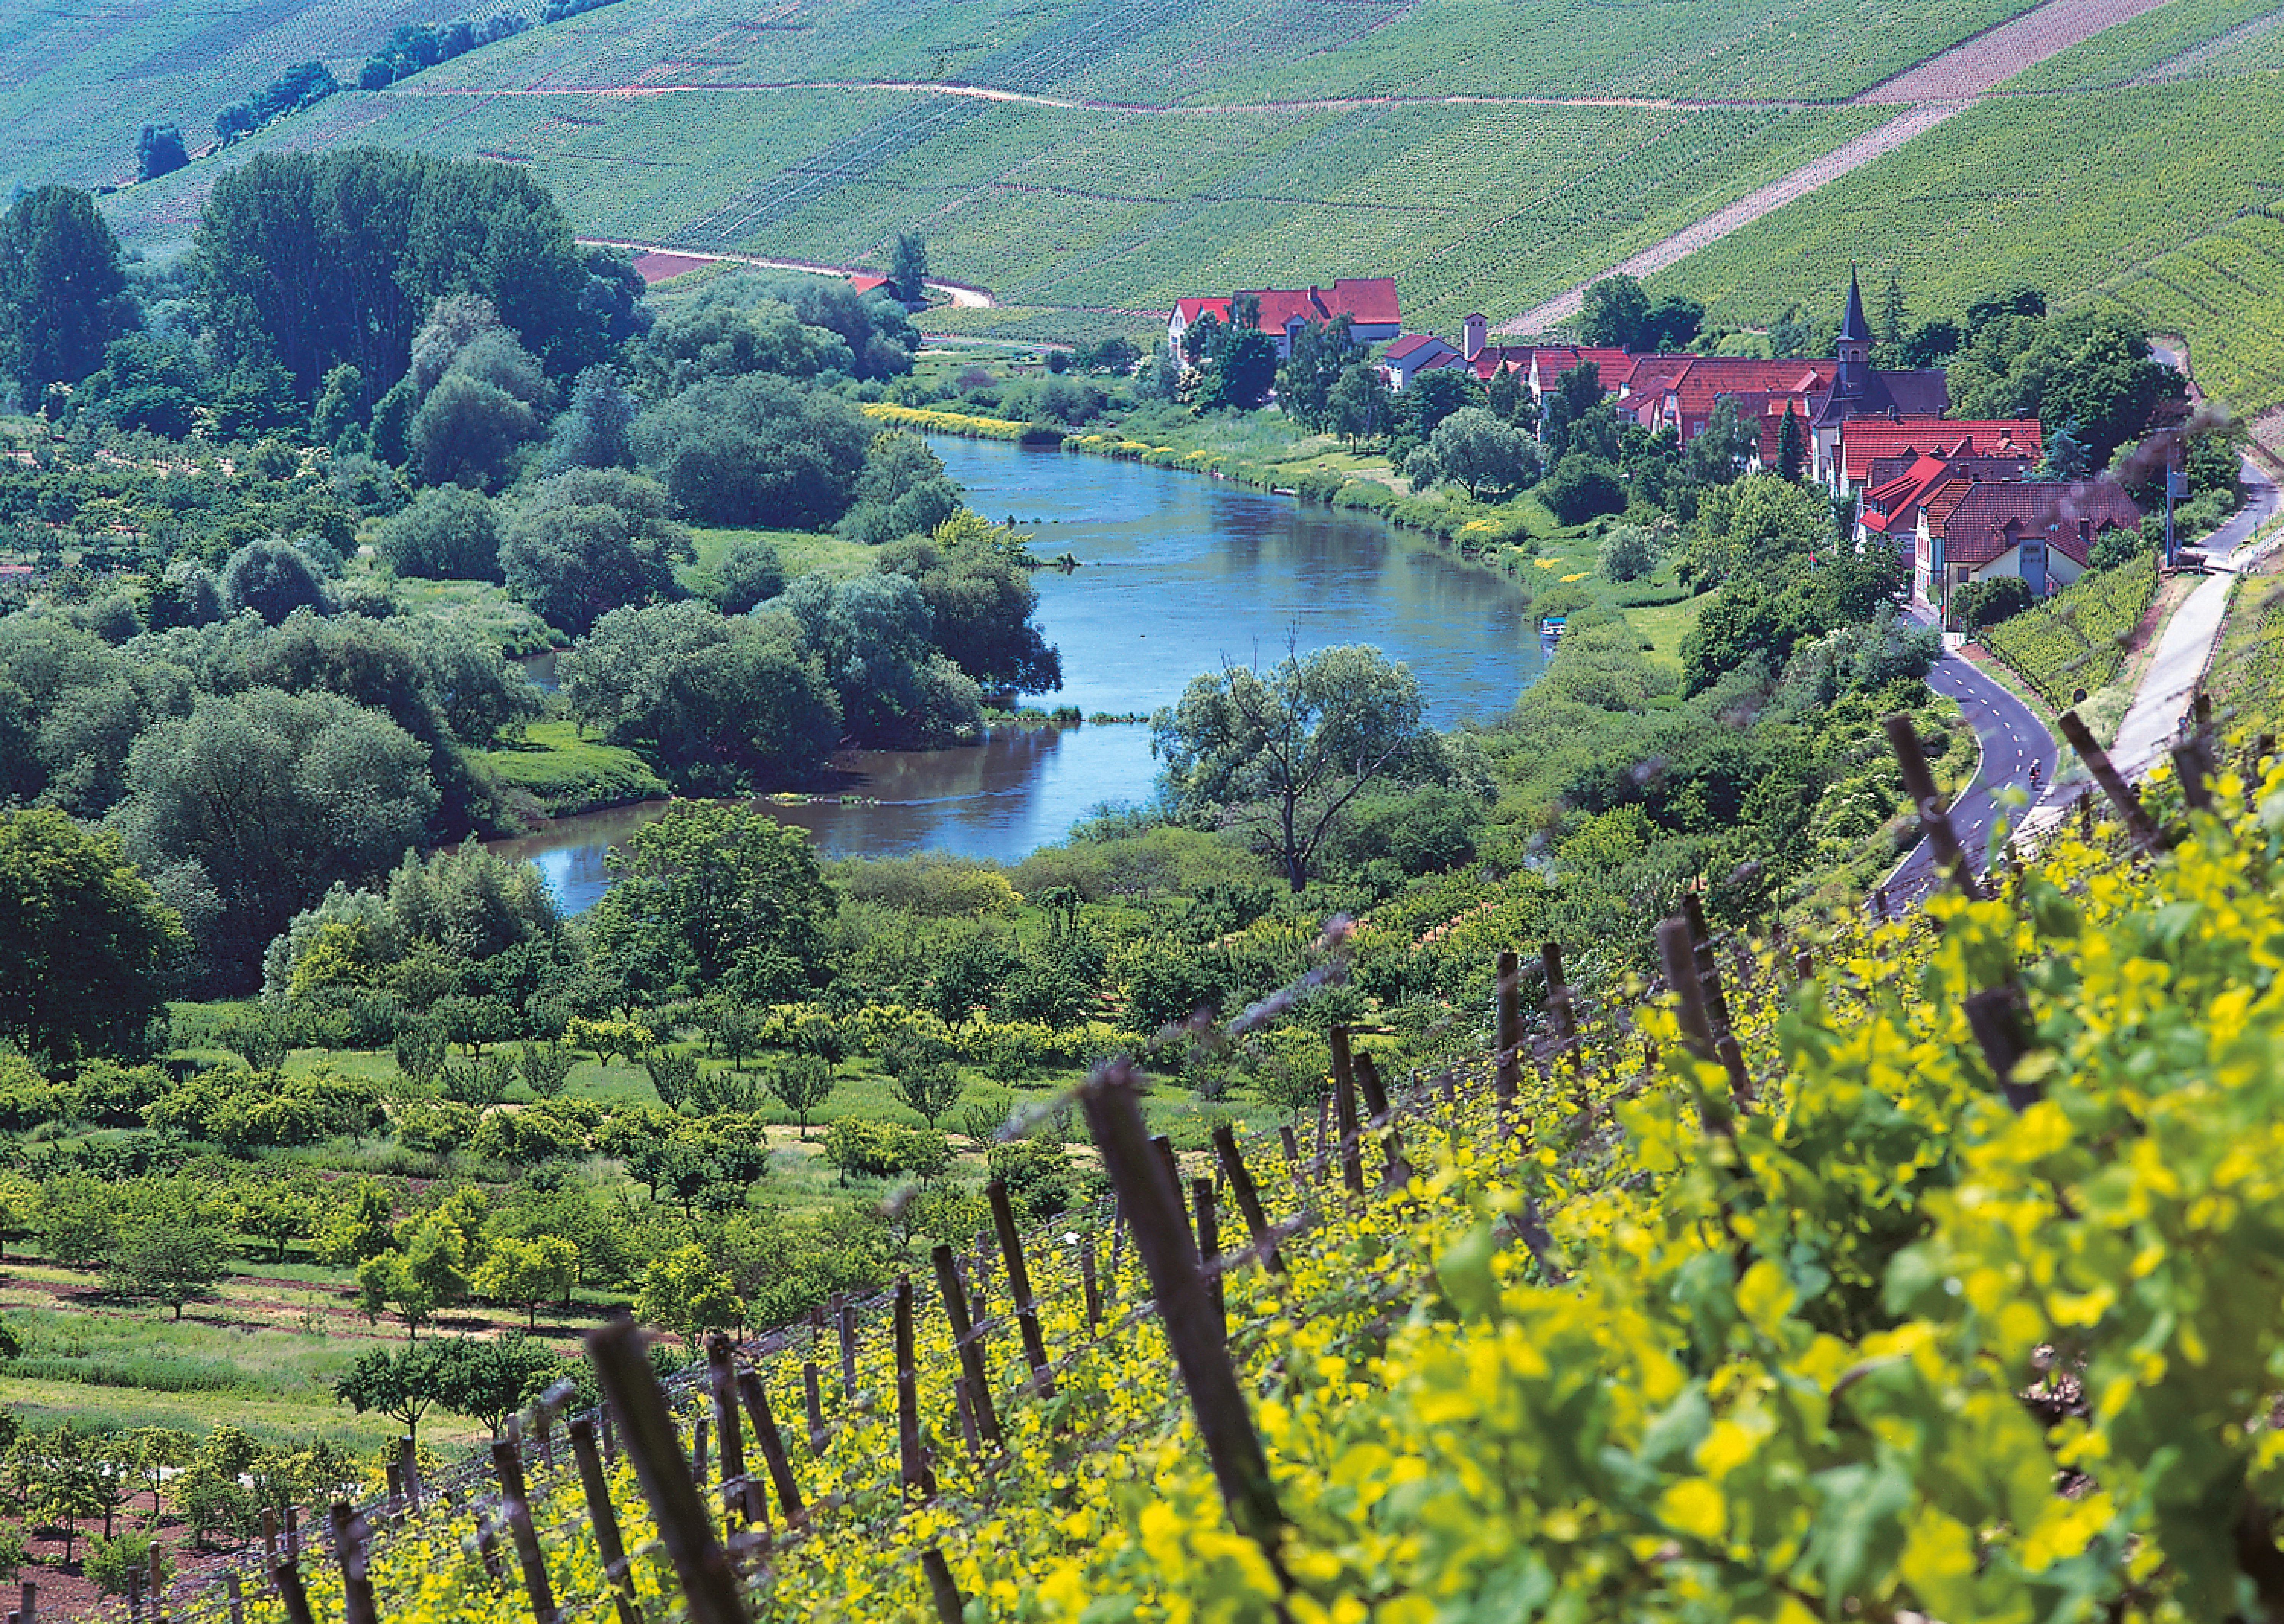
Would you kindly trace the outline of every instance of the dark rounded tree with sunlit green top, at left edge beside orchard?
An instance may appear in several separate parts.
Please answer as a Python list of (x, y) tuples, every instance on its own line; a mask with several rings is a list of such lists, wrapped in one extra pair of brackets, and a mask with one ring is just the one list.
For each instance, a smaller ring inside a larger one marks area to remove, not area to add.
[(142, 1051), (185, 943), (116, 834), (0, 811), (0, 1037), (57, 1067)]

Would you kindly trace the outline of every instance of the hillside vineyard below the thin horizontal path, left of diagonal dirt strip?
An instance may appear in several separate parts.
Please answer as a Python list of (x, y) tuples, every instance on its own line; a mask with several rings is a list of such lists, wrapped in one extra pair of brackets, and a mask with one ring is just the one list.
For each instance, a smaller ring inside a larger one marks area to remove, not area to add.
[[(580, 233), (825, 263), (927, 233), (1016, 304), (1391, 272), (1412, 324), (1551, 295), (1880, 123), (1875, 107), (1060, 110), (891, 91), (343, 96), (247, 142), (530, 162)], [(201, 167), (210, 169), (210, 167)], [(114, 199), (187, 231), (206, 174)]]

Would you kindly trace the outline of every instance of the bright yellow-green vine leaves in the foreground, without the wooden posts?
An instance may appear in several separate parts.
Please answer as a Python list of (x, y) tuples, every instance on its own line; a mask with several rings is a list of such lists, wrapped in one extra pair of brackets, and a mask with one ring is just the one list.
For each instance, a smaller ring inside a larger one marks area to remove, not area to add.
[[(1798, 932), (1743, 975), (1722, 955), (1747, 1106), (1660, 1005), (1590, 1032), (1583, 1071), (1526, 1071), (1512, 1128), (1480, 1074), (1414, 1099), (1402, 1190), (1295, 1185), (1254, 1147), (1270, 1215), (1313, 1208), (1286, 1272), (1224, 1279), (1284, 1578), (1231, 1528), (1156, 1320), (1119, 1320), (1147, 1295), (1131, 1247), (1089, 1336), (1057, 1224), (1032, 1243), (1055, 1396), (1026, 1393), (1000, 1332), (1007, 1448), (978, 1462), (923, 1313), (939, 1496), (904, 1503), (893, 1350), (868, 1332), (827, 1446), (793, 1441), (813, 1526), (761, 1565), (758, 1615), (920, 1624), (930, 1546), (994, 1619), (2243, 1613), (2231, 1530), (2284, 1503), (2261, 1421), (2284, 1366), (2284, 767), (2215, 790), (2259, 811), (2195, 815), (2156, 857), (2062, 836), (2010, 898), (1944, 895), (1930, 920), (1829, 920), (1813, 980)], [(2021, 1110), (1967, 1019), (2010, 984)], [(758, 1357), (779, 1416), (811, 1357), (806, 1336)], [(681, 1617), (633, 1473), (612, 1487), (646, 1613)], [(534, 1519), (555, 1594), (592, 1608), (566, 1466), (537, 1476)], [(466, 1533), (384, 1535), (388, 1617), (509, 1606)]]

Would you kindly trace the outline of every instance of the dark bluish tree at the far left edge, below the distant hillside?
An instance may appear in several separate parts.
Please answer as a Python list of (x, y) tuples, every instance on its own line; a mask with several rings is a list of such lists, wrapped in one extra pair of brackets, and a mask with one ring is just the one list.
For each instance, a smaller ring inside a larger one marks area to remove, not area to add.
[(43, 185), (0, 215), (0, 368), (27, 409), (96, 372), (132, 327), (119, 238), (94, 196)]

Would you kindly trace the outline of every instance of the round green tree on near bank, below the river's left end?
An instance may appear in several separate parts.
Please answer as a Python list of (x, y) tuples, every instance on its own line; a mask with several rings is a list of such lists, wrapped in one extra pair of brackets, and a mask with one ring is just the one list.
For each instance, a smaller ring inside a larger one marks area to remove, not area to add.
[(694, 991), (724, 980), (797, 996), (822, 962), (834, 893), (802, 829), (742, 806), (674, 802), (610, 854), (592, 939), (651, 955)]

